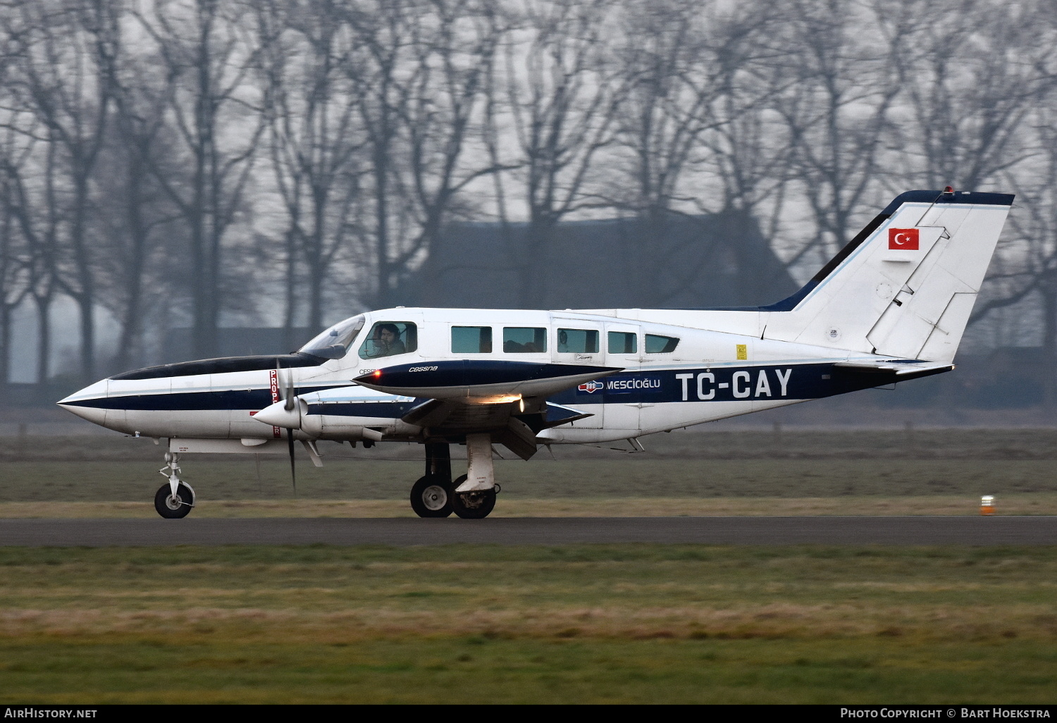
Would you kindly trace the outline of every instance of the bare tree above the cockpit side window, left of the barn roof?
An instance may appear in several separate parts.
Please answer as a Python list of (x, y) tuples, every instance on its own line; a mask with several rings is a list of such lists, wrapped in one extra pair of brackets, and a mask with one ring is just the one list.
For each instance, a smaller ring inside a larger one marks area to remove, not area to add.
[(465, 151), (504, 24), (486, 0), (370, 2), (346, 17), (367, 51), (347, 64), (359, 88), (372, 205), (359, 259), (372, 261), (369, 300), (385, 307), (461, 191), (495, 169)]

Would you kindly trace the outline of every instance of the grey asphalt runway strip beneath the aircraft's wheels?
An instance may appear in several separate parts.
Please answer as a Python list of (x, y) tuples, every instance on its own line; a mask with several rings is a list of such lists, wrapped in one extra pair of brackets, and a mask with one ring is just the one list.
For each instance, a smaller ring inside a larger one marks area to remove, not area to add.
[(1057, 544), (1057, 517), (6, 519), (0, 545)]

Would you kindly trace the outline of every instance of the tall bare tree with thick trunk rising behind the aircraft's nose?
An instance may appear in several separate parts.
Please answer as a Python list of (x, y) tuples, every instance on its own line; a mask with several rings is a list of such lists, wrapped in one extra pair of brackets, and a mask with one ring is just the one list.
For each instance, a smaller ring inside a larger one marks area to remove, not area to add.
[(186, 173), (149, 157), (151, 172), (179, 209), (190, 244), (193, 353), (217, 353), (224, 300), (224, 241), (243, 204), (255, 150), (265, 129), (246, 97), (259, 52), (242, 36), (241, 3), (157, 0), (134, 12), (164, 66), (157, 91), (178, 130)]

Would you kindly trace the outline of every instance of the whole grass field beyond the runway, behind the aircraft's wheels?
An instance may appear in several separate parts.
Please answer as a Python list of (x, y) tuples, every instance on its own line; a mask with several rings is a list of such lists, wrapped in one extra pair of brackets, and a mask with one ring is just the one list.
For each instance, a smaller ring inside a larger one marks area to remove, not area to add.
[[(496, 514), (976, 514), (981, 495), (999, 496), (1006, 514), (1057, 513), (1053, 429), (702, 432), (645, 443), (641, 455), (555, 447), (530, 462), (499, 460)], [(185, 456), (184, 477), (203, 503), (196, 514), (270, 515), (275, 504), (290, 514), (405, 514), (383, 502), (406, 500), (422, 475), (416, 445), (321, 450), (321, 468), (301, 460), (292, 505), (281, 456)], [(42, 502), (90, 503), (55, 515), (128, 515), (136, 507), (107, 503), (149, 504), (163, 452), (117, 435), (0, 440), (0, 515), (44, 514), (47, 505), (23, 504)], [(456, 474), (462, 464), (453, 461)]]

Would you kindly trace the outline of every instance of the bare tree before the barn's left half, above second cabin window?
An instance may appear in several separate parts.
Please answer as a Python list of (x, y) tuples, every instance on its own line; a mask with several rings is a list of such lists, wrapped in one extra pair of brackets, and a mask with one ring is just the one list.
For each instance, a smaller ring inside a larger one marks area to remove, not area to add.
[(527, 227), (513, 262), (523, 272), (522, 305), (539, 307), (548, 290), (527, 271), (551, 255), (558, 223), (608, 205), (589, 184), (598, 152), (613, 143), (623, 88), (607, 61), (611, 3), (523, 0), (517, 10), (501, 69), (514, 152), (497, 162), (518, 168)]

